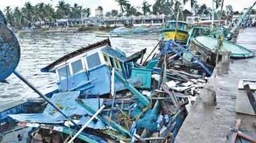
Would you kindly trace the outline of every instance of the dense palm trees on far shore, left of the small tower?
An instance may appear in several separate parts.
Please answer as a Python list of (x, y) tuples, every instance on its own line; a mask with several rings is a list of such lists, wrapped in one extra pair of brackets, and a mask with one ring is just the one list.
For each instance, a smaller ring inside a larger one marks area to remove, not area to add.
[(58, 2), (56, 8), (52, 4), (45, 3), (38, 3), (33, 6), (30, 2), (25, 3), (21, 8), (19, 6), (14, 9), (10, 6), (4, 8), (8, 24), (18, 29), (22, 26), (32, 26), (35, 22), (47, 21), (52, 23), (56, 19), (80, 19), (82, 12), (86, 13), (86, 17), (89, 17), (91, 9), (83, 8), (77, 3), (70, 6), (63, 0)]

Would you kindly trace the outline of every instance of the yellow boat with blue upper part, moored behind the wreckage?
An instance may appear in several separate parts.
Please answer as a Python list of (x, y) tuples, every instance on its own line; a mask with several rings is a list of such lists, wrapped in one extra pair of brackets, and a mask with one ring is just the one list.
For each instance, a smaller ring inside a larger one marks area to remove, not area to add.
[(164, 41), (174, 40), (186, 43), (188, 40), (188, 24), (184, 21), (169, 21), (164, 24), (164, 28), (160, 31)]

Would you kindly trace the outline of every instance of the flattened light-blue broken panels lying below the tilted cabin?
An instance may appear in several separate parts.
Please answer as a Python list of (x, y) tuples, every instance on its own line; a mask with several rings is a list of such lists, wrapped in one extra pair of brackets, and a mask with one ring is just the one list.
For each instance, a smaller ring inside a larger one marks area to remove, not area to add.
[[(92, 114), (77, 104), (76, 99), (80, 95), (80, 91), (69, 91), (65, 93), (56, 93), (52, 95), (51, 101), (55, 103), (67, 116), (81, 116), (77, 124), (86, 123)], [(93, 110), (100, 109), (103, 103), (103, 99), (90, 98), (85, 99), (83, 102), (90, 106)], [(26, 123), (49, 123), (49, 124), (61, 124), (67, 121), (59, 112), (56, 111), (51, 105), (47, 105), (43, 113), (38, 114), (10, 114), (8, 115), (20, 122)], [(106, 125), (102, 121), (93, 120), (89, 125), (89, 128), (104, 129)]]

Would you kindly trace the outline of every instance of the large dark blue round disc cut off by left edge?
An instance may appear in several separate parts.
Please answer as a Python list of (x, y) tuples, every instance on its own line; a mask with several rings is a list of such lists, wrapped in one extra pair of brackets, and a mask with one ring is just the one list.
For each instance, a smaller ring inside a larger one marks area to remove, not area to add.
[(0, 82), (14, 72), (19, 61), (19, 41), (10, 29), (0, 22)]

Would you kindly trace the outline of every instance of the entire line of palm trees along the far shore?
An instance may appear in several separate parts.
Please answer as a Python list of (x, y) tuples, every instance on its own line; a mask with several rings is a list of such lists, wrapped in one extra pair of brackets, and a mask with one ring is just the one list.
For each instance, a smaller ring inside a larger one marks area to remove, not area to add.
[[(131, 15), (177, 15), (180, 6), (189, 3), (191, 11), (196, 15), (209, 14), (211, 8), (207, 8), (205, 4), (199, 5), (197, 0), (156, 0), (154, 4), (149, 4), (144, 0), (141, 6), (133, 6), (129, 0), (114, 0), (120, 7), (120, 13), (118, 10), (111, 10), (106, 12), (106, 17), (122, 17)], [(223, 0), (224, 1), (224, 0)], [(214, 0), (216, 9), (221, 6), (221, 0)], [(98, 9), (102, 9), (101, 6)], [(218, 11), (220, 14), (220, 10)], [(27, 2), (19, 8), (14, 9), (10, 6), (6, 6), (4, 9), (6, 20), (10, 26), (20, 28), (23, 26), (32, 26), (36, 22), (49, 22), (52, 23), (56, 19), (81, 19), (81, 13), (86, 13), (86, 17), (91, 15), (90, 8), (83, 8), (79, 4), (71, 6), (65, 1), (61, 0), (54, 8), (51, 4), (38, 3), (33, 6), (30, 2)], [(234, 13), (231, 5), (226, 6), (226, 11), (223, 11), (221, 15), (231, 16)], [(239, 13), (236, 11), (236, 14)]]

